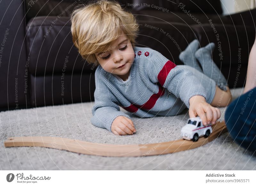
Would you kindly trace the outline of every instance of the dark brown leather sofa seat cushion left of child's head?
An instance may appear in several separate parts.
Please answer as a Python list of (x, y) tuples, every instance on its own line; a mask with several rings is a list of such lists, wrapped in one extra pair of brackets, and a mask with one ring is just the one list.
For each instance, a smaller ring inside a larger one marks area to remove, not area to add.
[(92, 72), (72, 42), (69, 17), (39, 16), (27, 25), (27, 48), (30, 57), (29, 72), (61, 74)]

